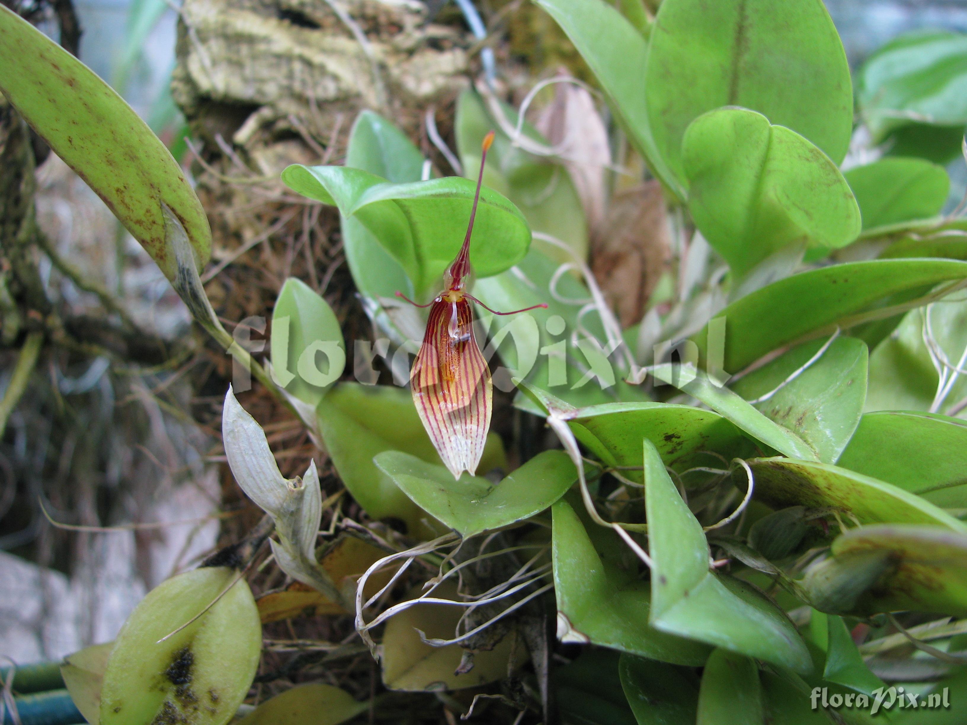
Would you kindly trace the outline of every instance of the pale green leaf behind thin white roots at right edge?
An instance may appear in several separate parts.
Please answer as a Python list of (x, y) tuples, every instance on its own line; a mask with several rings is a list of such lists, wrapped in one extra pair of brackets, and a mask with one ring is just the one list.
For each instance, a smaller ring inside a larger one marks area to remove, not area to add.
[[(929, 318), (927, 318), (929, 315)], [(927, 321), (929, 319), (929, 326)], [(950, 389), (937, 402), (940, 376), (924, 339), (932, 341), (953, 366), (967, 347), (967, 302), (945, 301), (907, 312), (894, 332), (869, 356), (866, 411), (906, 410), (943, 413), (967, 396), (967, 376), (946, 371)], [(960, 413), (958, 415), (967, 415)]]

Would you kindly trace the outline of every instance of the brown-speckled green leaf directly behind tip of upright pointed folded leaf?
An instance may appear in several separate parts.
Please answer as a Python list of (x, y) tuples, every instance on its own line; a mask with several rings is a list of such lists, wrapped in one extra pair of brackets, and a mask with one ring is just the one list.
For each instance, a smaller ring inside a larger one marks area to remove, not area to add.
[[(669, 466), (707, 465), (714, 450), (726, 458), (751, 455), (754, 445), (715, 411), (671, 403), (602, 403), (568, 415), (574, 436), (611, 466), (639, 467), (641, 440), (651, 441)], [(640, 480), (635, 471), (626, 476)]]

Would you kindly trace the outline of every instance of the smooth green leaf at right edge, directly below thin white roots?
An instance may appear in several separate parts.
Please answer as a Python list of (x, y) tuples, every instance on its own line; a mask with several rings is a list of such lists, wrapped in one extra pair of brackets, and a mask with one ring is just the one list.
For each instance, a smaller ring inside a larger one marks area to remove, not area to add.
[(929, 413), (867, 413), (837, 465), (943, 508), (967, 508), (967, 421)]

